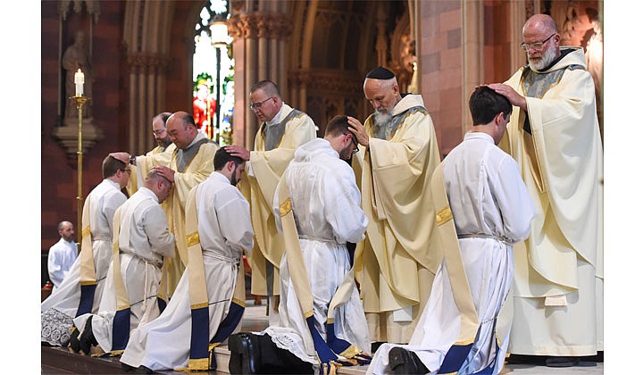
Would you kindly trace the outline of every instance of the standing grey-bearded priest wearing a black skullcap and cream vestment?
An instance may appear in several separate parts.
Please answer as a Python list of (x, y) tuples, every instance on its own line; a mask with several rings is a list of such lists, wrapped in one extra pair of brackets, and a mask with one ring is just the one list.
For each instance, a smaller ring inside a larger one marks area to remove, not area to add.
[(355, 248), (355, 277), (376, 342), (408, 343), (429, 298), (440, 253), (430, 177), (440, 162), (422, 96), (400, 93), (393, 72), (368, 73), (363, 91), (375, 110), (349, 117), (360, 152), (353, 157), (366, 238)]

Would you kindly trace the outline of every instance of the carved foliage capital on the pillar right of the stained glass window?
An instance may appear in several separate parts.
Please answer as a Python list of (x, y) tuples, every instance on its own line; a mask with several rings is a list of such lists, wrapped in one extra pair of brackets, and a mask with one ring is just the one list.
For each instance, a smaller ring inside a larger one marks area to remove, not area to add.
[(292, 22), (281, 13), (235, 14), (228, 20), (231, 37), (265, 37), (286, 39), (292, 33)]

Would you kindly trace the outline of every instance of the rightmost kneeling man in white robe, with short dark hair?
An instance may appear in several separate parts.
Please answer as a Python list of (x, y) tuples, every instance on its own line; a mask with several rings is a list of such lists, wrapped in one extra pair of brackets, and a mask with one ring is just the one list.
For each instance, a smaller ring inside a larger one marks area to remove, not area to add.
[(513, 244), (529, 235), (535, 211), (517, 163), (496, 146), (512, 105), (478, 87), (469, 108), (472, 132), (431, 181), (445, 253), (429, 301), (409, 344), (380, 346), (369, 374), (497, 374), (503, 368), (510, 323), (498, 315), (514, 280)]

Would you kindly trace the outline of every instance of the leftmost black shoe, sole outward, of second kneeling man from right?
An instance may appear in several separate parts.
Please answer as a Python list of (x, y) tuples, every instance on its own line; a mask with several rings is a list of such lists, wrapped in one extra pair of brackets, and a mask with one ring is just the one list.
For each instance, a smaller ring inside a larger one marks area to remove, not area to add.
[(257, 374), (261, 356), (259, 340), (252, 333), (236, 333), (228, 338), (230, 349), (230, 374)]

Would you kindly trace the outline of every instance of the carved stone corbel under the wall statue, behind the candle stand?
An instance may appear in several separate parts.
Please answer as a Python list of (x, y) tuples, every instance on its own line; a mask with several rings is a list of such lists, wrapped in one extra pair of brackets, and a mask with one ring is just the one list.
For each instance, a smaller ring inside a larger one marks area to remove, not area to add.
[[(78, 118), (71, 119), (65, 118), (63, 126), (54, 128), (52, 136), (56, 139), (59, 146), (63, 148), (67, 155), (67, 161), (71, 165), (75, 165), (78, 152)], [(96, 145), (96, 143), (103, 139), (103, 129), (97, 128), (94, 125), (93, 119), (83, 119), (82, 122), (82, 152), (86, 154), (88, 150)]]

